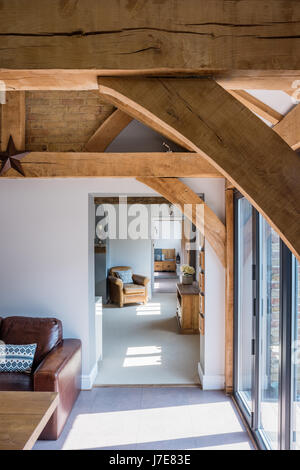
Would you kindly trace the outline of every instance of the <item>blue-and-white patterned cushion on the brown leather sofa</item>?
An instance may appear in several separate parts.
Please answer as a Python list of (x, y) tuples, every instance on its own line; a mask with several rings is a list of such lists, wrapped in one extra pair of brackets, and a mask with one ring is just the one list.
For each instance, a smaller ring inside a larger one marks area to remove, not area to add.
[(31, 372), (36, 344), (4, 344), (0, 342), (0, 372)]

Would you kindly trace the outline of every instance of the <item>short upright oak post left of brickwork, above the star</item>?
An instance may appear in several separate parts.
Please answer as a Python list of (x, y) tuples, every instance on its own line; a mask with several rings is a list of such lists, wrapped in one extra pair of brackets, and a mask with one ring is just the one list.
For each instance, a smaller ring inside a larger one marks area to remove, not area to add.
[(8, 92), (5, 104), (1, 105), (1, 151), (7, 147), (12, 136), (18, 150), (25, 149), (25, 92)]

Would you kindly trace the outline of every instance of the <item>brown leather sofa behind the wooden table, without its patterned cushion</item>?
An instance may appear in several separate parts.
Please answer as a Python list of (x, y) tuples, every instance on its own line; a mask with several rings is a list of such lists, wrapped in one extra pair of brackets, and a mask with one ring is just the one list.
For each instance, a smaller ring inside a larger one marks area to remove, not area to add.
[(80, 391), (81, 341), (62, 338), (56, 318), (0, 318), (0, 340), (37, 343), (31, 374), (0, 373), (0, 391), (58, 392), (59, 404), (39, 439), (56, 440)]

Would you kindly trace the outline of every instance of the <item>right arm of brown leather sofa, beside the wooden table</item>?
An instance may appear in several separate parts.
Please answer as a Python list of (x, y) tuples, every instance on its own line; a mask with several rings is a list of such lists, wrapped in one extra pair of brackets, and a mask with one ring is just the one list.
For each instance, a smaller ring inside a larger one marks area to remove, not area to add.
[(58, 392), (59, 404), (41, 434), (57, 439), (81, 388), (81, 341), (65, 339), (45, 357), (33, 374), (34, 391)]

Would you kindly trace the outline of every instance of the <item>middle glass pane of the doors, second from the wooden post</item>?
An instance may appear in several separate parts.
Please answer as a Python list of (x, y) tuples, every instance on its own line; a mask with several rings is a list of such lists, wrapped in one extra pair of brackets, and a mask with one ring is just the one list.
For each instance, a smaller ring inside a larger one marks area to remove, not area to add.
[(259, 428), (272, 449), (279, 437), (280, 239), (260, 218)]

